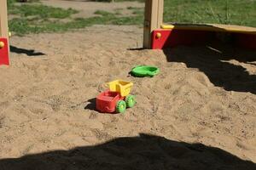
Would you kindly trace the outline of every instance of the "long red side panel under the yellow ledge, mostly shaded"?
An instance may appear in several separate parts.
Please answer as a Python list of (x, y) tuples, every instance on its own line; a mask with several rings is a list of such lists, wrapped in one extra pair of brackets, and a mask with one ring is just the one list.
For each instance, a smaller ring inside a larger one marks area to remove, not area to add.
[[(152, 48), (162, 49), (177, 45), (205, 45), (213, 41), (219, 42), (217, 33), (217, 31), (157, 29), (152, 33)], [(235, 37), (231, 42), (233, 45), (256, 50), (256, 35), (245, 33), (230, 34)]]

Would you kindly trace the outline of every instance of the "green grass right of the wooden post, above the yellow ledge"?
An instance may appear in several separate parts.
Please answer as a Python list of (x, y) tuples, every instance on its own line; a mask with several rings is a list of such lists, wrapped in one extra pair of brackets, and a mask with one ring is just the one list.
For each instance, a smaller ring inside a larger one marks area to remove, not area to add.
[(166, 0), (165, 22), (256, 26), (256, 1)]

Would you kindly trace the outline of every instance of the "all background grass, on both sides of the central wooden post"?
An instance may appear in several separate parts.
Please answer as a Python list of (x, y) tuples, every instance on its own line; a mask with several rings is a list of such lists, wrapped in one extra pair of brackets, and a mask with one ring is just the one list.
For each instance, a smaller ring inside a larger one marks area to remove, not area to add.
[[(115, 0), (121, 1), (125, 0)], [(122, 15), (119, 8), (113, 13), (98, 10), (96, 17), (73, 18), (79, 11), (45, 6), (38, 0), (31, 2), (17, 5), (15, 0), (8, 0), (9, 14), (15, 16), (9, 20), (9, 29), (16, 35), (69, 31), (98, 24), (143, 26), (143, 8), (128, 7), (133, 16)], [(252, 0), (165, 0), (164, 11), (165, 22), (256, 26), (256, 1)]]

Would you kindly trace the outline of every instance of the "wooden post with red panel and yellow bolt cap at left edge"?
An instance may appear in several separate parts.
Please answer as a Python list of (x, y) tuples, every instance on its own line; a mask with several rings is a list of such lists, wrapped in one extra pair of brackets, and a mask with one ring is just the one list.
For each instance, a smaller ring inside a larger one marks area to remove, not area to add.
[(0, 65), (9, 65), (7, 0), (0, 1)]

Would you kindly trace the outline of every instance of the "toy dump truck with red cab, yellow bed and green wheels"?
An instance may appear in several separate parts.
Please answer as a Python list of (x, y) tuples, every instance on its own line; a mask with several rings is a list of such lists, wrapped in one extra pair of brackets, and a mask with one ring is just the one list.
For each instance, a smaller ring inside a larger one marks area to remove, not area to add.
[(109, 89), (96, 97), (96, 110), (107, 113), (124, 113), (126, 107), (136, 104), (135, 96), (131, 95), (132, 82), (116, 80), (108, 82)]

